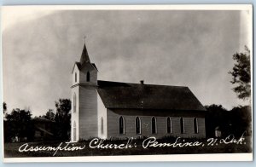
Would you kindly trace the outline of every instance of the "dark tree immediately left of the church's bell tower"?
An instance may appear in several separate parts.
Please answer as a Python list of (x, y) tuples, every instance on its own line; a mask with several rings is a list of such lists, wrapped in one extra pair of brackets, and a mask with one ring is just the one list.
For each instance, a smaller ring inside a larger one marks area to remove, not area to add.
[(59, 99), (55, 101), (55, 136), (59, 140), (69, 140), (71, 130), (71, 101)]

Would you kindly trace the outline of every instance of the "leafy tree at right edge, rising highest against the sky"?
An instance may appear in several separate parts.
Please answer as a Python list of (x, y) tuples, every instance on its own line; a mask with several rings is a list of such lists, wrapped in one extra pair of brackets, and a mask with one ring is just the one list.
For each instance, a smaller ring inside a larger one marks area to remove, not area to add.
[(246, 100), (251, 95), (251, 71), (250, 71), (250, 50), (245, 46), (244, 53), (236, 53), (233, 55), (233, 60), (236, 60), (232, 71), (232, 84), (236, 84), (233, 90), (238, 98)]

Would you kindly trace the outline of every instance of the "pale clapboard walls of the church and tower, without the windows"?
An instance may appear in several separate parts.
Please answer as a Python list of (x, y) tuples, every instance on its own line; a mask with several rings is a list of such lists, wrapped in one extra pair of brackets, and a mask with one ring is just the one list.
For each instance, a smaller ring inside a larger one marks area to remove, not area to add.
[[(97, 71), (94, 66), (87, 63), (81, 71), (75, 66), (73, 72), (77, 72), (78, 86), (72, 88), (73, 94), (77, 96), (77, 112), (73, 113), (72, 108), (72, 130), (71, 140), (73, 137), (73, 122), (76, 121), (76, 139), (89, 139), (91, 137), (102, 138), (130, 138), (143, 136), (156, 136), (158, 138), (165, 135), (180, 137), (205, 137), (205, 112), (204, 111), (167, 111), (167, 110), (140, 110), (140, 109), (106, 109), (102, 101), (97, 99)], [(86, 75), (90, 72), (90, 82), (87, 82)], [(100, 97), (99, 97), (100, 98)], [(101, 103), (101, 104), (100, 104)], [(99, 106), (98, 106), (99, 105)], [(72, 105), (73, 107), (73, 105)], [(101, 111), (98, 111), (98, 107)], [(102, 109), (103, 108), (103, 109)], [(107, 112), (106, 112), (107, 110)], [(125, 118), (125, 134), (119, 135), (119, 117)], [(141, 134), (136, 134), (135, 119), (141, 120)], [(156, 134), (152, 134), (152, 117), (156, 118)], [(167, 118), (172, 118), (172, 133), (167, 134)], [(181, 134), (180, 117), (184, 118), (185, 131)], [(104, 122), (104, 133), (101, 133), (101, 118)], [(198, 133), (195, 134), (194, 118), (198, 120)]]

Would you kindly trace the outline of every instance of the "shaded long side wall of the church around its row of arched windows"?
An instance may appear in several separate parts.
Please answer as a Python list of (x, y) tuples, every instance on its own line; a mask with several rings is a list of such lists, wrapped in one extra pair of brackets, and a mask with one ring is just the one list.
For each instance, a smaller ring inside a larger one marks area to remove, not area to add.
[[(152, 134), (152, 116), (139, 116), (139, 115), (122, 115), (113, 110), (107, 109), (108, 115), (108, 138), (130, 138), (130, 137), (143, 137), (143, 136), (155, 136), (157, 138), (165, 135), (180, 136), (184, 138), (205, 137), (205, 118), (198, 118), (198, 130), (199, 133), (195, 134), (194, 130), (194, 117), (183, 117), (185, 122), (185, 133), (181, 134), (180, 117), (172, 118), (172, 133), (167, 134), (167, 117), (168, 116), (154, 116), (156, 118), (157, 133)], [(126, 111), (127, 112), (127, 111)], [(119, 135), (119, 117), (125, 118), (125, 135)], [(136, 117), (141, 119), (141, 134), (137, 135), (135, 130)], [(183, 116), (183, 115), (182, 115)]]

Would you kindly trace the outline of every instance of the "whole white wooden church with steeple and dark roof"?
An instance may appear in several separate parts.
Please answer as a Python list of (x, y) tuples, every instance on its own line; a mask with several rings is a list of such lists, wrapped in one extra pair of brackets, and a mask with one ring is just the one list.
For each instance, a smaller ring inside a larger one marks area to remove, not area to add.
[(102, 81), (97, 72), (84, 43), (72, 72), (72, 141), (206, 136), (206, 109), (188, 87)]

